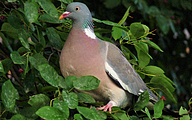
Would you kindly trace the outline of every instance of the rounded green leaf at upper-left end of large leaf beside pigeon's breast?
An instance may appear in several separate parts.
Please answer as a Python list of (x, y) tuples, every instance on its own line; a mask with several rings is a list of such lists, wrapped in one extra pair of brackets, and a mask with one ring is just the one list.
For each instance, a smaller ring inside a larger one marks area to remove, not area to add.
[(47, 59), (43, 55), (41, 55), (40, 53), (36, 53), (33, 56), (30, 56), (29, 57), (29, 62), (36, 69), (38, 69), (38, 66), (40, 66), (42, 64), (48, 64)]

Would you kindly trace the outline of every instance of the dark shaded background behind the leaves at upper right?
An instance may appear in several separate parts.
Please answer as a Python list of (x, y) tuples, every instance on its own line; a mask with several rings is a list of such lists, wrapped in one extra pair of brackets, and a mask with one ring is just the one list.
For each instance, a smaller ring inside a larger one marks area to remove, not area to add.
[[(153, 57), (150, 64), (161, 67), (166, 76), (175, 83), (177, 104), (174, 109), (185, 106), (192, 97), (192, 0), (74, 0), (85, 3), (93, 17), (100, 20), (119, 22), (125, 11), (131, 6), (126, 25), (141, 22), (156, 30), (151, 35), (163, 53), (150, 49)], [(96, 27), (109, 27), (97, 25)], [(107, 36), (107, 34), (106, 34)], [(110, 37), (110, 36), (108, 36)]]

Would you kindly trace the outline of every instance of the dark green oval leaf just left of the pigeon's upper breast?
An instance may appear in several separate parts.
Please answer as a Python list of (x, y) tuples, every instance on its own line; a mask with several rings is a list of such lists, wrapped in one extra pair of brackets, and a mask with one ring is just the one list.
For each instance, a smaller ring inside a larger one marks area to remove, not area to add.
[(46, 34), (53, 47), (59, 50), (63, 48), (64, 43), (61, 41), (59, 34), (56, 32), (56, 30), (53, 27), (47, 28)]

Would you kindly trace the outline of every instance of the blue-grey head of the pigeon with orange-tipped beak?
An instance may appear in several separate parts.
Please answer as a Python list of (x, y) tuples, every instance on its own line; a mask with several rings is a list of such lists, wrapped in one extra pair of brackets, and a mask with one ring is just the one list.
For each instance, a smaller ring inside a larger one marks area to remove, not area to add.
[(86, 28), (93, 26), (92, 24), (92, 16), (88, 9), (88, 7), (80, 2), (70, 3), (66, 12), (64, 12), (59, 19), (70, 18), (73, 20), (73, 27), (75, 28)]

